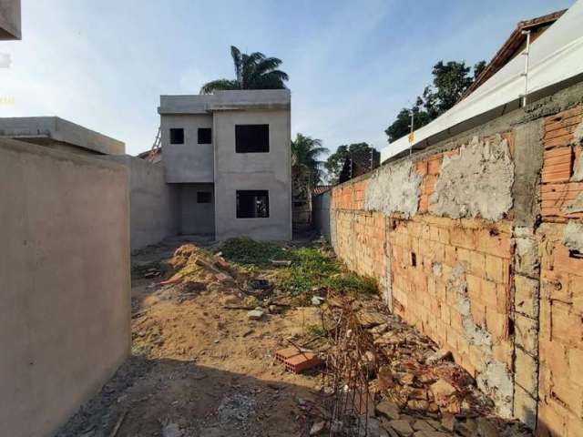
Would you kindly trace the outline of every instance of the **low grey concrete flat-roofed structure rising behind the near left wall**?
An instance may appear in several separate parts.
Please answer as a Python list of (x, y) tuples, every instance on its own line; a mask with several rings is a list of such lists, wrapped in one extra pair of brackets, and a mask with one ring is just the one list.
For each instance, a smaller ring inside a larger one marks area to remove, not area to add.
[(0, 118), (0, 137), (82, 155), (123, 155), (126, 145), (59, 117)]

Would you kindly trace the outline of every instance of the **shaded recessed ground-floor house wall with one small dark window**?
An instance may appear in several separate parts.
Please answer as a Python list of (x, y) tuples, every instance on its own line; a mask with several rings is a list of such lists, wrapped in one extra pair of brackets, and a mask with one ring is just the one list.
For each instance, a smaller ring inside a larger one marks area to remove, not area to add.
[[(214, 186), (213, 184), (179, 184), (180, 189), (180, 233), (204, 234), (215, 233)], [(197, 194), (210, 192), (210, 203), (199, 203)]]

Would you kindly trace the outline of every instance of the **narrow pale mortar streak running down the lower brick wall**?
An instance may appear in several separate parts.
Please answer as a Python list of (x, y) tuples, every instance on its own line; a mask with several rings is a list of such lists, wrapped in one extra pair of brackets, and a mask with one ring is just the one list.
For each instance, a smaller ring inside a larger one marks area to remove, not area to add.
[(462, 316), (465, 340), (483, 352), (483, 359), (476, 369), (476, 383), (494, 401), (496, 412), (502, 417), (512, 417), (514, 382), (506, 364), (494, 358), (492, 335), (476, 324), (472, 317), (471, 302), (467, 294), (465, 267), (457, 264), (446, 281), (447, 292), (455, 292), (457, 310)]

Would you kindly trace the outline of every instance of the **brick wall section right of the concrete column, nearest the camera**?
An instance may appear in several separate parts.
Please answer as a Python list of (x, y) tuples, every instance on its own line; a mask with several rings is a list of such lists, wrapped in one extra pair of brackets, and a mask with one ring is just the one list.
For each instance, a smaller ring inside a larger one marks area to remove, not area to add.
[(582, 213), (566, 207), (583, 195), (572, 181), (581, 153), (574, 133), (583, 123), (583, 107), (545, 119), (541, 175), (539, 384), (540, 435), (583, 435), (583, 258), (563, 244), (567, 220)]

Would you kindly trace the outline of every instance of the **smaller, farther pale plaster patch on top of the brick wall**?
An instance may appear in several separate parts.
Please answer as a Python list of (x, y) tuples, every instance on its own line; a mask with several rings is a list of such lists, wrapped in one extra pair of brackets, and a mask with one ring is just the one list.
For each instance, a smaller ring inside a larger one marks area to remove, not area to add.
[(387, 215), (400, 212), (411, 217), (419, 205), (421, 181), (410, 160), (379, 168), (366, 188), (364, 208)]

